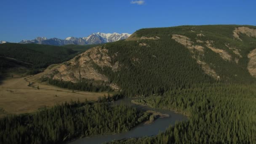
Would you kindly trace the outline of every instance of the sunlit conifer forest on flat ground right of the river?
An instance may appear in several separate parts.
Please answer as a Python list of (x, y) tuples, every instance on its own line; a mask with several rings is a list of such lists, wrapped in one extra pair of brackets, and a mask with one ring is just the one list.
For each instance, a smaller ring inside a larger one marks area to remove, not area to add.
[(149, 105), (189, 115), (150, 138), (113, 141), (112, 144), (238, 143), (256, 141), (256, 85), (213, 84), (176, 89), (147, 97)]

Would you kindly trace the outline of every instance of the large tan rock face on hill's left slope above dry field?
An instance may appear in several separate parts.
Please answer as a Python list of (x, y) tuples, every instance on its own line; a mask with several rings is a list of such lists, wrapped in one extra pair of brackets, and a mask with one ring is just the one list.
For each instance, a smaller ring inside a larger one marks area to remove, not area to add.
[(117, 91), (120, 88), (115, 83), (110, 83), (107, 76), (102, 75), (93, 67), (93, 65), (97, 65), (101, 68), (110, 67), (114, 72), (118, 71), (121, 68), (119, 62), (117, 61), (115, 64), (112, 64), (112, 58), (115, 56), (116, 55), (109, 56), (108, 50), (100, 46), (91, 48), (70, 61), (49, 66), (39, 76), (40, 78), (48, 77), (53, 80), (71, 81), (72, 83), (77, 83), (84, 78), (104, 83)]

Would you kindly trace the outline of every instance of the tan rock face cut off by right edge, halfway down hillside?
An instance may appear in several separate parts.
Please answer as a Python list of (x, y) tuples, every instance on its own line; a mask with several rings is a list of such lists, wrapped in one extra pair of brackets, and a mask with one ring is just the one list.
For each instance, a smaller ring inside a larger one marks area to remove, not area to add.
[(248, 59), (249, 63), (247, 69), (251, 76), (256, 77), (256, 49), (248, 54)]

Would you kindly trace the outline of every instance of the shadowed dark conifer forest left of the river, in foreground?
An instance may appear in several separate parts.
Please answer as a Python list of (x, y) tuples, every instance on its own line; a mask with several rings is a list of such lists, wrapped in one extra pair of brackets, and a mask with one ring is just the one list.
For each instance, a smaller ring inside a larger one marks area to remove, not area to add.
[(53, 144), (96, 134), (129, 131), (141, 112), (127, 105), (72, 101), (34, 114), (0, 119), (1, 144)]

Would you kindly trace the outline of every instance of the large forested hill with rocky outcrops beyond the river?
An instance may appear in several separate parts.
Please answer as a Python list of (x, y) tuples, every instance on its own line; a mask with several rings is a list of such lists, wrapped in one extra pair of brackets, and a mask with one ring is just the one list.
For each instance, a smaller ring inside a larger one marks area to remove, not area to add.
[(51, 67), (39, 78), (93, 80), (127, 95), (161, 94), (202, 83), (254, 83), (255, 49), (254, 26), (140, 29), (127, 40), (91, 48)]

